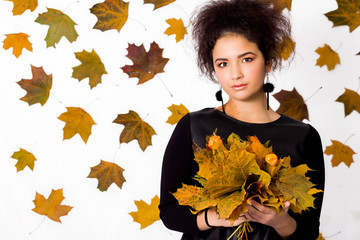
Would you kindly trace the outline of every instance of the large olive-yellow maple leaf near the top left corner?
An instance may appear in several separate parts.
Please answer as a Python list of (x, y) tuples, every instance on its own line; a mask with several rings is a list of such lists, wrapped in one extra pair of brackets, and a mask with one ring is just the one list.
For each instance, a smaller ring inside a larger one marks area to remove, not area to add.
[(54, 46), (65, 36), (69, 42), (77, 39), (78, 34), (75, 31), (76, 23), (69, 16), (59, 10), (47, 8), (47, 12), (39, 14), (35, 22), (49, 25), (48, 33), (45, 37), (46, 47)]

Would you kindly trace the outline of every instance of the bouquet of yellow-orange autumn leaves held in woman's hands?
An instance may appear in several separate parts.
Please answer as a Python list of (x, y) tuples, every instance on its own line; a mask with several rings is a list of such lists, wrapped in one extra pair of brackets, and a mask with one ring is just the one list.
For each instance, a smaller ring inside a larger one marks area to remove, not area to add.
[[(291, 167), (290, 157), (278, 159), (269, 142), (261, 144), (256, 136), (243, 141), (232, 133), (224, 144), (214, 133), (207, 136), (206, 142), (206, 148), (194, 148), (199, 164), (194, 179), (200, 186), (183, 184), (173, 194), (180, 205), (190, 206), (194, 214), (213, 208), (219, 218), (233, 223), (247, 211), (253, 198), (279, 214), (287, 201), (295, 213), (314, 207), (313, 194), (321, 190), (314, 188), (305, 176), (311, 170), (306, 164)], [(248, 222), (239, 229), (238, 239), (251, 231)]]

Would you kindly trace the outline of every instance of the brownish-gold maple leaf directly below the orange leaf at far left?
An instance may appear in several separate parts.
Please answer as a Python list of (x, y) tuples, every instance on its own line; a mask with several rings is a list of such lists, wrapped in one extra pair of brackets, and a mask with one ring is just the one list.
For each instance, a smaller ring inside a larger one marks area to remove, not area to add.
[(29, 105), (40, 103), (43, 106), (49, 98), (52, 86), (52, 74), (47, 75), (42, 67), (31, 65), (32, 79), (21, 79), (17, 82), (21, 88), (27, 91), (27, 94), (20, 98)]

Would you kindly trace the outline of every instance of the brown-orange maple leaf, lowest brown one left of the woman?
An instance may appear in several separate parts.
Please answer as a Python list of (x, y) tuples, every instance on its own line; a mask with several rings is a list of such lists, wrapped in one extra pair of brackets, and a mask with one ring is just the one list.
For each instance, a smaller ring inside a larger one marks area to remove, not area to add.
[(98, 189), (103, 192), (107, 191), (112, 183), (121, 188), (126, 181), (123, 172), (124, 169), (117, 164), (101, 160), (98, 165), (91, 168), (88, 178), (97, 178), (99, 181)]

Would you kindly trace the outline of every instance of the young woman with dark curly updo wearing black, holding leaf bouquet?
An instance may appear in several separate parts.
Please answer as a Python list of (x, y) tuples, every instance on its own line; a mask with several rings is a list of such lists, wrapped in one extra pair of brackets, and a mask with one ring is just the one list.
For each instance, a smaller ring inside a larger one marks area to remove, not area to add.
[[(252, 240), (317, 239), (323, 194), (316, 194), (315, 208), (302, 214), (282, 214), (258, 203), (248, 205), (233, 225), (219, 219), (213, 209), (196, 215), (180, 206), (172, 193), (182, 183), (198, 185), (193, 145), (206, 147), (205, 138), (217, 129), (227, 139), (236, 133), (241, 139), (257, 136), (270, 140), (279, 157), (290, 156), (291, 165), (307, 164), (307, 174), (316, 188), (324, 189), (323, 150), (318, 132), (309, 124), (273, 111), (264, 87), (267, 74), (281, 64), (281, 43), (290, 37), (289, 20), (264, 0), (218, 0), (200, 8), (195, 16), (193, 37), (200, 70), (217, 81), (229, 101), (184, 116), (177, 124), (165, 151), (161, 179), (160, 217), (164, 224), (183, 232), (182, 239), (226, 240), (244, 221), (251, 222)], [(265, 84), (268, 85), (268, 84)], [(236, 239), (236, 235), (232, 237)]]

